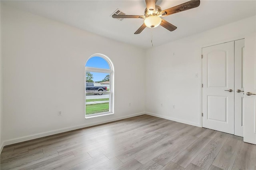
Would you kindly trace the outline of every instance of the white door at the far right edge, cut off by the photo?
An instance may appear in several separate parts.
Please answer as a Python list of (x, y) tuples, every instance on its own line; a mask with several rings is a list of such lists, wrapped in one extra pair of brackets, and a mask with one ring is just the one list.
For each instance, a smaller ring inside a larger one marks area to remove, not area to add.
[(244, 142), (256, 144), (256, 95), (253, 95), (256, 94), (255, 33), (245, 38), (244, 56)]

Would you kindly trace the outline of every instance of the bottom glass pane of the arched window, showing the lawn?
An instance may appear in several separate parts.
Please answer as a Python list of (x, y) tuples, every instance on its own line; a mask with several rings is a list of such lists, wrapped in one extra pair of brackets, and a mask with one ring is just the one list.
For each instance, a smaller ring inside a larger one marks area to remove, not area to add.
[(86, 115), (103, 113), (109, 111), (109, 95), (86, 94)]

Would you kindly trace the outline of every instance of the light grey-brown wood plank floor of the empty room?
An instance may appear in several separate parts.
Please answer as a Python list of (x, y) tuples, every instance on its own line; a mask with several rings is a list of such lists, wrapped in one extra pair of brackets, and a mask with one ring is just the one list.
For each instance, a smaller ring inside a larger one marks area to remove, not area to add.
[(4, 147), (1, 170), (256, 170), (241, 137), (148, 115)]

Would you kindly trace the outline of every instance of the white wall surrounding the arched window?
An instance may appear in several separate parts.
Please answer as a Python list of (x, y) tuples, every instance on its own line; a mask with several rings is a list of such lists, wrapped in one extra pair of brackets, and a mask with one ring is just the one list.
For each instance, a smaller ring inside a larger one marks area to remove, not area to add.
[[(4, 5), (1, 15), (4, 145), (144, 113), (144, 50)], [(115, 114), (84, 119), (94, 53), (114, 64)]]

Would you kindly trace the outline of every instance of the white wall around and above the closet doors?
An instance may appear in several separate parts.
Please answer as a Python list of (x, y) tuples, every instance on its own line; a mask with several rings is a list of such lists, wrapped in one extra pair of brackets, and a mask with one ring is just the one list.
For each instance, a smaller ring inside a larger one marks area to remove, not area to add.
[(146, 113), (201, 126), (202, 47), (244, 38), (255, 27), (256, 16), (149, 49)]

